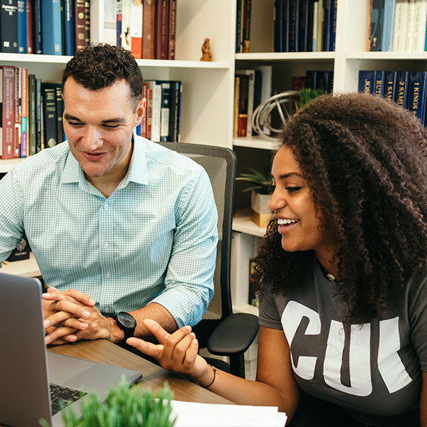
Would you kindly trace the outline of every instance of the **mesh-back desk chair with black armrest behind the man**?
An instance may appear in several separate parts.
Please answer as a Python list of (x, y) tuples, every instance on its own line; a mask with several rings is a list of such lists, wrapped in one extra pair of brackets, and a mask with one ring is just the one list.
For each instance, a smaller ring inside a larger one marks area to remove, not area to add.
[(243, 354), (258, 332), (258, 317), (247, 313), (233, 314), (231, 306), (230, 258), (236, 154), (225, 147), (182, 142), (160, 144), (199, 163), (211, 179), (218, 209), (219, 236), (214, 273), (215, 292), (203, 319), (193, 330), (200, 348), (206, 347), (211, 354), (230, 358), (229, 365), (215, 358), (209, 358), (209, 363), (244, 378)]

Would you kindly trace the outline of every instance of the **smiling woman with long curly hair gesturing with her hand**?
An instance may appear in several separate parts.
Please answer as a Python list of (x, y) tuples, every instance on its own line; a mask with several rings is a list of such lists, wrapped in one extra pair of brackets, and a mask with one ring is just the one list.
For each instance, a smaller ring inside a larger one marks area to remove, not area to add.
[(256, 381), (206, 364), (190, 327), (146, 320), (161, 344), (128, 343), (238, 404), (300, 404), (291, 426), (427, 427), (426, 130), (379, 97), (325, 95), (280, 140)]

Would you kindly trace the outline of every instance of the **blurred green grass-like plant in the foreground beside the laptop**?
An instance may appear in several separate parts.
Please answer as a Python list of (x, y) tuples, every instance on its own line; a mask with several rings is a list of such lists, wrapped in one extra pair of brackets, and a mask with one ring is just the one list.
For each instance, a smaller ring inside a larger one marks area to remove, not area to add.
[[(176, 418), (171, 416), (172, 391), (167, 383), (163, 389), (152, 392), (137, 384), (130, 387), (125, 381), (110, 389), (104, 403), (95, 393), (83, 397), (80, 420), (71, 408), (63, 408), (65, 427), (172, 427)], [(61, 401), (61, 406), (65, 404)], [(46, 420), (41, 426), (48, 427)]]

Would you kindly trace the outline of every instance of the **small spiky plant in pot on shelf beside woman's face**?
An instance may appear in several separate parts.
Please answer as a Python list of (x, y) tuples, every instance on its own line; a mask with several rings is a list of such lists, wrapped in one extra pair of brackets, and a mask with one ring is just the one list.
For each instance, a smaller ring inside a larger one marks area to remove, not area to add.
[(249, 184), (243, 191), (251, 191), (251, 219), (258, 227), (267, 226), (271, 217), (268, 207), (273, 186), (270, 176), (270, 168), (265, 167), (263, 172), (259, 172), (251, 167), (246, 167), (249, 173), (241, 174), (236, 181), (244, 181)]

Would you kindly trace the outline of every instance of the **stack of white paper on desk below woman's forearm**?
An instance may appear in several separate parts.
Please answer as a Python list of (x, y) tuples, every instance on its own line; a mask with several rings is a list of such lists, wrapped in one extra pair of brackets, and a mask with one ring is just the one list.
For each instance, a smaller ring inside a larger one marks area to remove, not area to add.
[(286, 414), (277, 406), (196, 404), (172, 401), (174, 427), (283, 427)]

